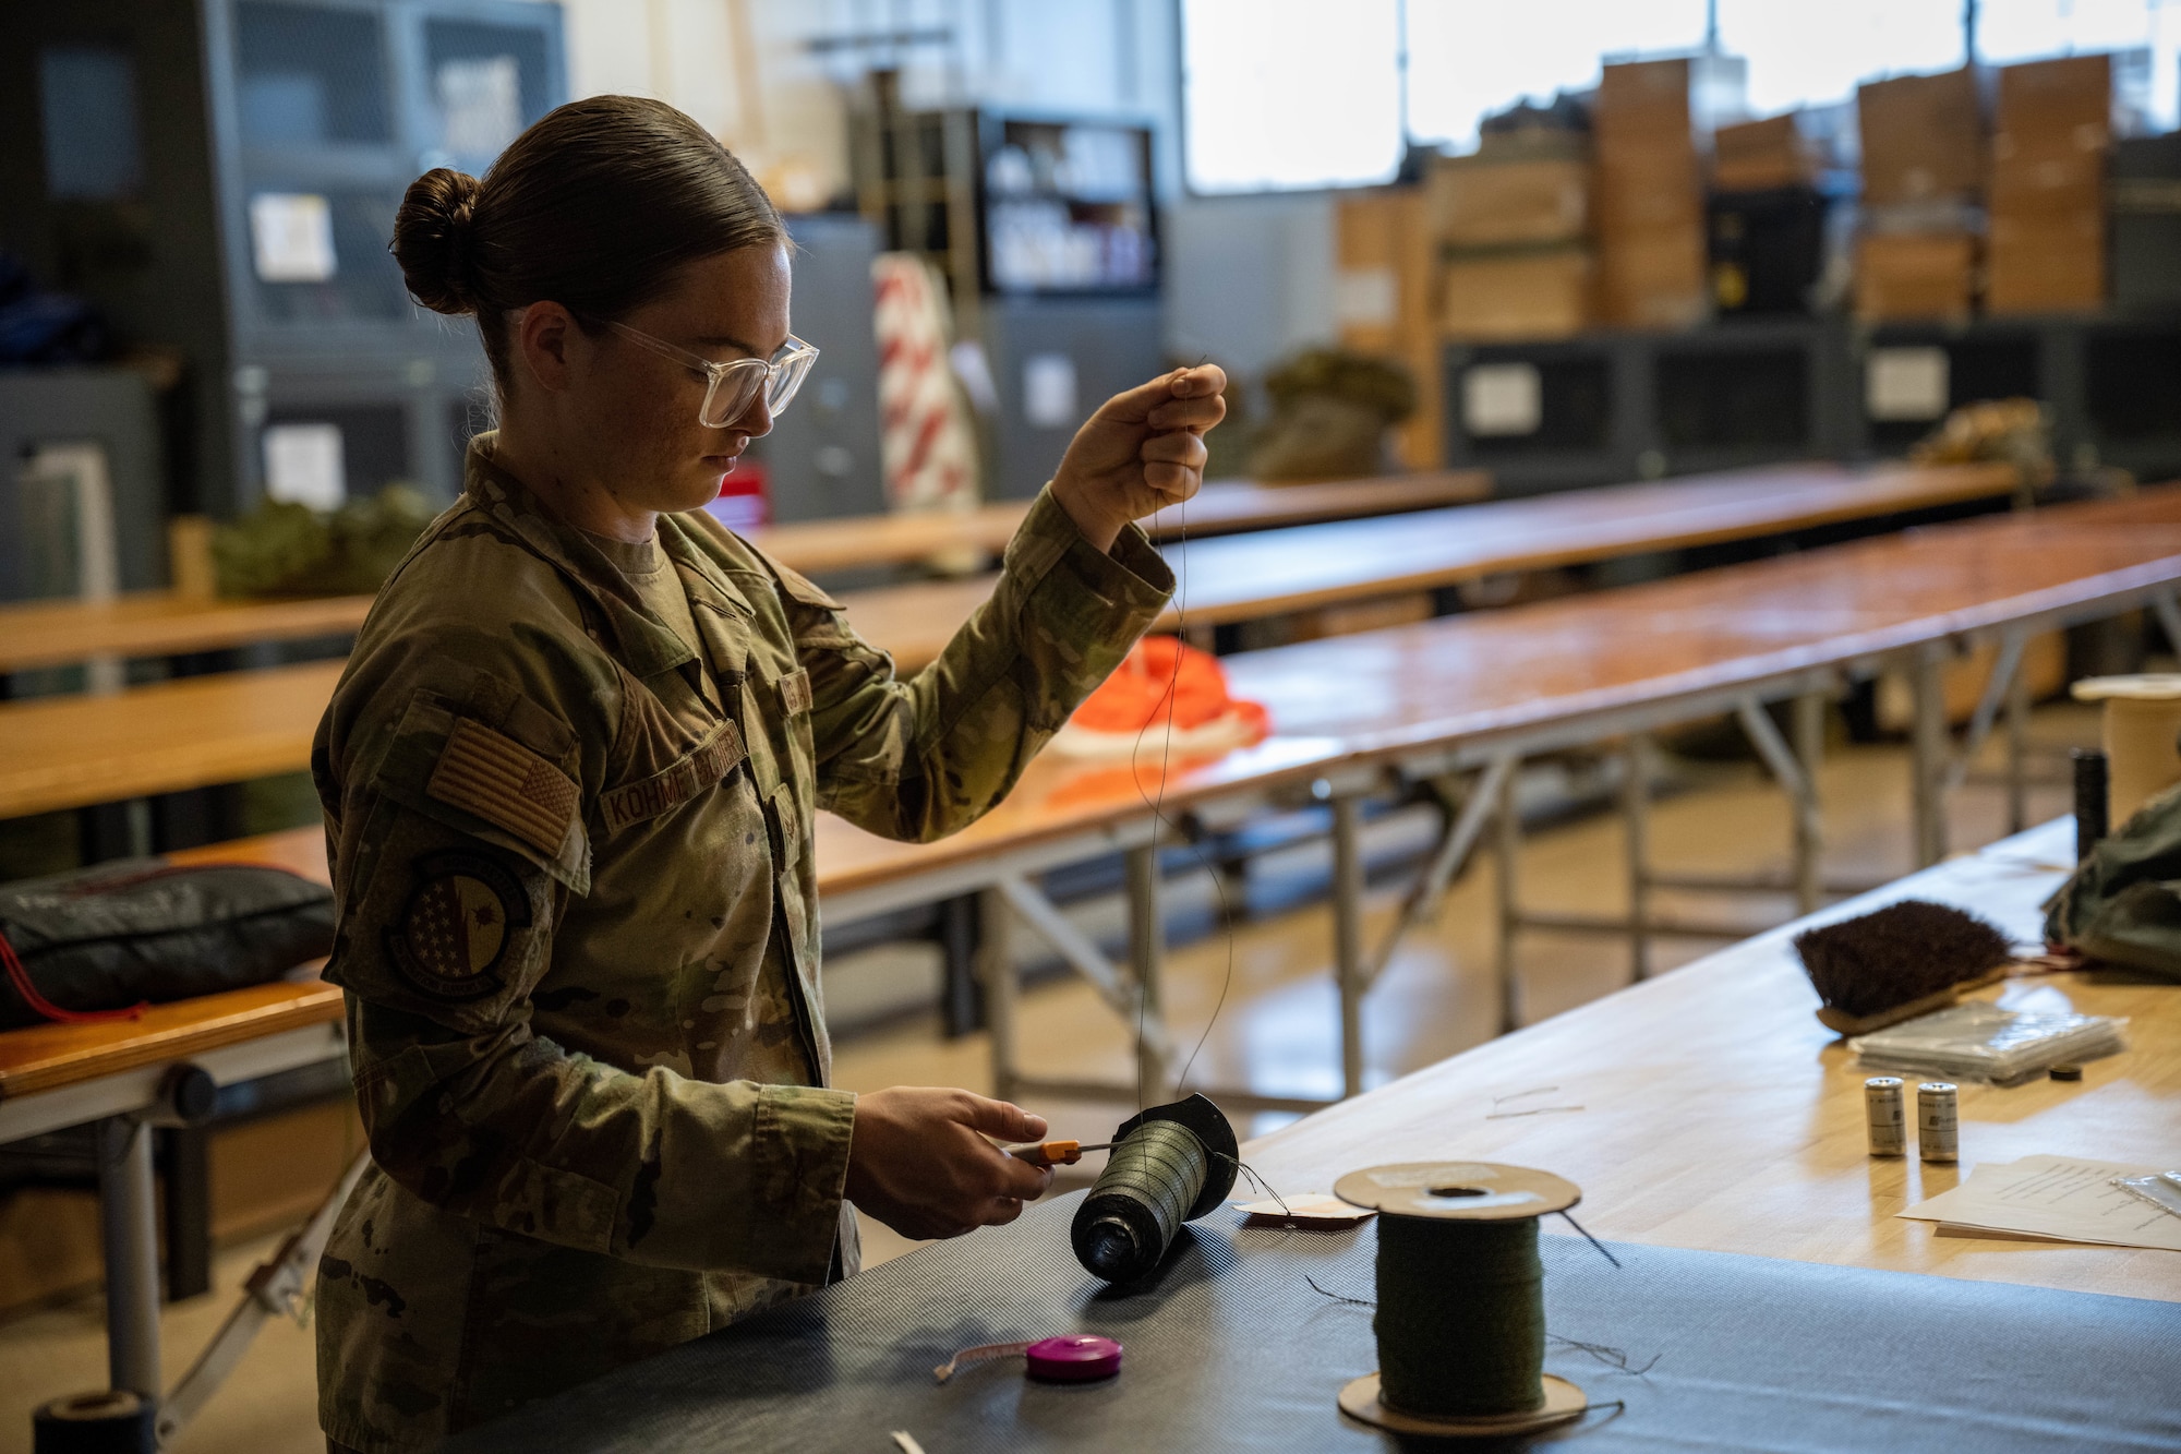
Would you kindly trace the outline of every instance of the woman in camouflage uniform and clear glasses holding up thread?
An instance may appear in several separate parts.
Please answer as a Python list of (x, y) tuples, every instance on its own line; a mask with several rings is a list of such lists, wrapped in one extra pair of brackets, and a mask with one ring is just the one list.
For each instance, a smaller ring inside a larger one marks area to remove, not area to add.
[(395, 255), (475, 314), (502, 406), (318, 729), (373, 1168), (318, 1277), (334, 1450), (425, 1447), (916, 1238), (1005, 1223), (1036, 1116), (827, 1087), (811, 814), (933, 838), (1014, 784), (1156, 618), (1132, 520), (1195, 493), (1224, 378), (1110, 400), (990, 603), (903, 681), (702, 509), (807, 365), (787, 238), (672, 107), (591, 98)]

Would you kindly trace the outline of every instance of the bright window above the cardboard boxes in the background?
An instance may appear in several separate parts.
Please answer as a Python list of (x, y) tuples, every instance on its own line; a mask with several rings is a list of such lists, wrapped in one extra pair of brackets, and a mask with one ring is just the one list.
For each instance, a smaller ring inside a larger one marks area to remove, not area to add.
[[(2113, 52), (2124, 129), (2181, 109), (2181, 0), (1978, 0), (1978, 61)], [(1337, 15), (1337, 17), (1335, 17)], [(1391, 181), (1407, 142), (1470, 151), (1518, 100), (1596, 85), (1601, 57), (1692, 55), (1706, 0), (1182, 0), (1184, 166), (1195, 192)], [(1963, 0), (1716, 0), (1747, 107), (1854, 98), (1863, 81), (1952, 70)]]

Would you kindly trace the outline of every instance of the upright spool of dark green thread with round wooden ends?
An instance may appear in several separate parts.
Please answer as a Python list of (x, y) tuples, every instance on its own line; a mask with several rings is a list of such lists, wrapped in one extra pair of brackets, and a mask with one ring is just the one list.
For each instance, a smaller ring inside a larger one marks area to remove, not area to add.
[(1538, 1218), (1573, 1181), (1492, 1161), (1348, 1172), (1335, 1194), (1378, 1212), (1378, 1371), (1341, 1410), (1400, 1434), (1505, 1437), (1579, 1419), (1581, 1389), (1544, 1371)]

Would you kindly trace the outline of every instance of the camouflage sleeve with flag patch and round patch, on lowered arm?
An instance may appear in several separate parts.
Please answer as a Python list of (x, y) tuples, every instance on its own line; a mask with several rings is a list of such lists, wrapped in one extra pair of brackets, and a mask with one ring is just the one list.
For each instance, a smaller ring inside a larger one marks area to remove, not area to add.
[(325, 974), (349, 993), (373, 1159), (445, 1212), (545, 1242), (822, 1282), (851, 1094), (637, 1074), (532, 1030), (554, 926), (589, 886), (608, 694), (550, 651), (386, 655), (351, 666), (316, 762), (336, 843)]

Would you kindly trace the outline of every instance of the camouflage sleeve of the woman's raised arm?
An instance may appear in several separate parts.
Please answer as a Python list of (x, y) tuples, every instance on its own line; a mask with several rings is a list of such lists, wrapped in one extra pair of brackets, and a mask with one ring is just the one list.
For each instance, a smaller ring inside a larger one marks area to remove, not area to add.
[(1045, 489), (992, 596), (909, 679), (838, 603), (779, 570), (811, 675), (818, 803), (890, 838), (940, 838), (990, 810), (1173, 594), (1136, 526), (1097, 550)]

